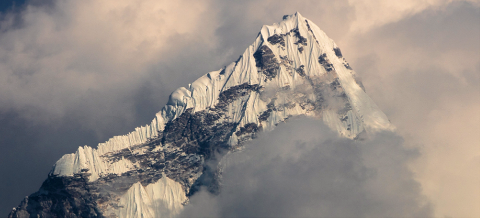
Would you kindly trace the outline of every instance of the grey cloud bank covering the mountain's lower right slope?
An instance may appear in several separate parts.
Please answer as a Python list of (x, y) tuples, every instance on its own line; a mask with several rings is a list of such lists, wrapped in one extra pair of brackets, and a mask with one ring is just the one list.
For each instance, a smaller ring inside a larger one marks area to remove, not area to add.
[(393, 133), (357, 142), (293, 119), (223, 160), (218, 196), (200, 192), (180, 217), (431, 217)]

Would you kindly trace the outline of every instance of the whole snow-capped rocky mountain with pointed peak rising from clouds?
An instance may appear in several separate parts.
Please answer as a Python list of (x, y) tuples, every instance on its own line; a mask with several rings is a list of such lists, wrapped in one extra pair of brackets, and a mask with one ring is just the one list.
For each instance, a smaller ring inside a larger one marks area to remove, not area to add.
[(149, 125), (64, 155), (8, 217), (174, 217), (199, 187), (219, 192), (225, 154), (300, 115), (351, 139), (392, 128), (333, 40), (296, 12), (171, 93)]

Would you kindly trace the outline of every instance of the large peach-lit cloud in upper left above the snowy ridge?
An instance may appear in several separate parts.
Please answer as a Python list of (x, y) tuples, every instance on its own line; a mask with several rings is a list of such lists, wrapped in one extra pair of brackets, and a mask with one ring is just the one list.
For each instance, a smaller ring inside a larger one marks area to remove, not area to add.
[[(64, 0), (7, 13), (0, 24), (0, 109), (22, 110), (22, 116), (40, 122), (79, 113), (91, 117), (84, 125), (92, 128), (100, 117), (129, 114), (135, 107), (129, 95), (152, 77), (171, 80), (161, 84), (165, 93), (155, 96), (166, 98), (180, 80), (205, 73), (172, 76), (188, 69), (178, 55), (190, 58), (191, 44), (201, 45), (195, 50), (215, 46), (209, 40), (214, 28), (208, 22), (214, 16), (206, 13), (209, 2), (185, 4)], [(166, 63), (172, 57), (174, 62)]]

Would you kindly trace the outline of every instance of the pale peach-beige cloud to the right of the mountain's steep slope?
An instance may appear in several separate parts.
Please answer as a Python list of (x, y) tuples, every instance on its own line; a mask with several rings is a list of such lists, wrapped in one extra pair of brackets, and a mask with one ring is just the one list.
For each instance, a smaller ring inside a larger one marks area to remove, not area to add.
[(479, 20), (480, 7), (453, 2), (342, 47), (398, 133), (421, 145), (424, 155), (413, 169), (436, 216), (480, 215)]

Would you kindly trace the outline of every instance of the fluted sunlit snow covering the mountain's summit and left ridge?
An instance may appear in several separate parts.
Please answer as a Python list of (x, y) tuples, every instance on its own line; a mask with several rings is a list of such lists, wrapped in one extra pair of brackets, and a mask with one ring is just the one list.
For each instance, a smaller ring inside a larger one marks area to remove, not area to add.
[[(258, 53), (259, 49), (265, 49), (263, 55), (270, 55), (267, 64), (272, 66), (265, 66), (265, 69), (259, 66), (262, 65), (258, 63), (258, 56), (262, 55)], [(228, 105), (227, 118), (221, 118), (220, 122), (239, 123), (238, 128), (254, 123), (264, 130), (271, 130), (289, 116), (302, 114), (322, 119), (330, 128), (348, 138), (354, 138), (361, 132), (392, 128), (383, 112), (363, 91), (361, 83), (355, 79), (355, 72), (342, 58), (333, 40), (297, 12), (285, 16), (279, 23), (262, 26), (254, 43), (237, 61), (205, 74), (188, 88), (181, 87), (172, 92), (168, 103), (149, 125), (137, 127), (123, 136), (115, 136), (98, 144), (96, 149), (80, 147), (74, 154), (64, 155), (58, 160), (51, 174), (72, 176), (88, 170), (91, 173), (89, 180), (95, 181), (108, 174), (121, 175), (135, 169), (135, 165), (128, 160), (109, 164), (102, 156), (157, 137), (166, 123), (188, 108), (192, 108), (192, 112), (214, 108), (220, 93), (230, 87), (247, 83), (258, 85), (264, 90), (300, 90), (306, 83), (317, 85), (316, 83), (327, 80), (331, 82), (330, 85), (338, 83), (339, 93), (344, 93), (342, 97), (348, 102), (348, 107), (341, 113), (337, 108), (325, 107), (318, 112), (301, 104), (289, 104), (292, 93), (298, 94), (296, 92), (276, 92), (274, 96), (252, 92), (241, 102), (236, 102), (238, 105)], [(303, 94), (300, 93), (297, 97), (311, 98)], [(273, 111), (269, 106), (272, 101), (276, 104)], [(260, 118), (268, 110), (269, 116), (266, 119)], [(233, 134), (230, 144), (235, 145), (237, 142), (238, 137)]]

